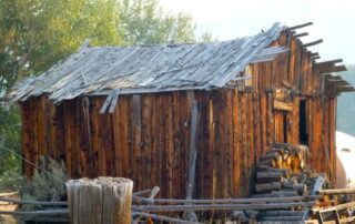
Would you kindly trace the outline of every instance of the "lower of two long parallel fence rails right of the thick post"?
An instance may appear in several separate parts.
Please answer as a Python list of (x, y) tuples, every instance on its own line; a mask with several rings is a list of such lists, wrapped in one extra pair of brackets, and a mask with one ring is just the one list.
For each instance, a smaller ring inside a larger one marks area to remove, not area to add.
[(132, 205), (133, 211), (180, 212), (180, 211), (231, 211), (231, 210), (281, 210), (293, 207), (312, 207), (312, 202), (270, 203), (270, 204), (193, 204), (193, 205)]

